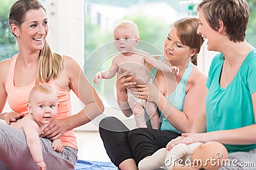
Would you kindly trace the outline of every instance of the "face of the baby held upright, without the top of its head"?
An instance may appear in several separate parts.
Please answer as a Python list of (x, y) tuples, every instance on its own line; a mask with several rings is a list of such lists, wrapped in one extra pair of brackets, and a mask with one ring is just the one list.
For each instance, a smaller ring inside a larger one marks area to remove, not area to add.
[(114, 40), (116, 49), (119, 52), (134, 52), (135, 46), (138, 45), (138, 38), (136, 38), (136, 34), (126, 27), (115, 29)]

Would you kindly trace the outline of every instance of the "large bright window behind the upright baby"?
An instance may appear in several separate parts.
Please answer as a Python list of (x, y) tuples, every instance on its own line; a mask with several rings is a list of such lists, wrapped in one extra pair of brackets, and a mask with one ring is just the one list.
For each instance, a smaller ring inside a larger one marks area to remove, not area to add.
[[(187, 6), (179, 1), (97, 1), (85, 0), (85, 74), (89, 80), (97, 71), (111, 66), (118, 52), (113, 43), (113, 29), (122, 20), (138, 25), (138, 49), (151, 55), (163, 53), (163, 42), (170, 24), (188, 15)], [(118, 108), (115, 94), (116, 77), (93, 84), (106, 106)]]

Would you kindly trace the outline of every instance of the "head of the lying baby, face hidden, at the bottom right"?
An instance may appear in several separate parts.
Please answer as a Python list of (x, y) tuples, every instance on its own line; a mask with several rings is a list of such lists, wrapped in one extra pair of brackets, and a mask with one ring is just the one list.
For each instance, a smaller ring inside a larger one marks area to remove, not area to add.
[(199, 169), (217, 170), (225, 165), (227, 159), (225, 146), (217, 141), (209, 141), (195, 148), (191, 161)]

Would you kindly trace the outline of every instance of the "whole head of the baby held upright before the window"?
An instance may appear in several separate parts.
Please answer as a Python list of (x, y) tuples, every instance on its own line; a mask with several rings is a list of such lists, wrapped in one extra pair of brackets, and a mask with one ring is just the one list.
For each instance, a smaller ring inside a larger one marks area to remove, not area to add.
[(113, 36), (119, 52), (133, 52), (140, 41), (137, 25), (129, 20), (117, 24)]

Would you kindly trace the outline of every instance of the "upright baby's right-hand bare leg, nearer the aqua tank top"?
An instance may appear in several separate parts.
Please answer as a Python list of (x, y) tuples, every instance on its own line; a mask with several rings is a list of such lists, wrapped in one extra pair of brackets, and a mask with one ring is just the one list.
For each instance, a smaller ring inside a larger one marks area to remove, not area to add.
[(147, 102), (146, 111), (148, 116), (150, 117), (150, 122), (153, 129), (159, 129), (159, 115), (157, 112), (157, 106), (155, 103)]

